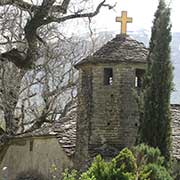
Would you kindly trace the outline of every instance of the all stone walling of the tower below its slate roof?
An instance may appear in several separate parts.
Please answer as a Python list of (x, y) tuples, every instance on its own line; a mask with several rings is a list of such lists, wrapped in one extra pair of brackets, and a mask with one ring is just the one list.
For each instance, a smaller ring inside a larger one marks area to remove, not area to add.
[[(104, 85), (104, 68), (113, 69), (112, 85)], [(81, 167), (89, 156), (113, 157), (134, 144), (139, 124), (133, 94), (136, 69), (145, 69), (145, 64), (81, 67), (76, 144), (77, 163), (82, 163)]]

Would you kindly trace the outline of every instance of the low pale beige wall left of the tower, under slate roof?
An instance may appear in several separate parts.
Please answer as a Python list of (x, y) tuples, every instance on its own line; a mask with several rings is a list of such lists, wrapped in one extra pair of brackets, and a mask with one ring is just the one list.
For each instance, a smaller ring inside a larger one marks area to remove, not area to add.
[[(57, 171), (52, 173), (54, 165)], [(52, 179), (72, 165), (55, 137), (13, 139), (0, 164), (0, 177), (13, 180), (22, 171), (36, 170)]]

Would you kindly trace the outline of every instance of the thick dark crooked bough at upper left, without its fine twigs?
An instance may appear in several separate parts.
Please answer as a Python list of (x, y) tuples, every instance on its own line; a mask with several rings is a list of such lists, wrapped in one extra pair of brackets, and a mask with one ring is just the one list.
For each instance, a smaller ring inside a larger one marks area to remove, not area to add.
[[(4, 3), (3, 3), (4, 2)], [(20, 51), (18, 49), (12, 49), (8, 52), (5, 52), (1, 54), (0, 59), (4, 61), (4, 59), (8, 59), (9, 61), (13, 62), (17, 67), (19, 68), (25, 68), (29, 69), (34, 67), (34, 63), (38, 59), (38, 39), (39, 36), (37, 35), (37, 30), (42, 25), (47, 25), (52, 22), (61, 23), (69, 19), (75, 19), (75, 18), (83, 18), (88, 17), (92, 18), (96, 16), (101, 7), (106, 6), (109, 8), (112, 8), (110, 5), (105, 4), (106, 0), (103, 0), (96, 8), (94, 12), (90, 13), (75, 13), (72, 15), (62, 16), (62, 17), (55, 17), (50, 15), (50, 12), (52, 11), (55, 0), (43, 0), (41, 6), (36, 7), (36, 11), (34, 11), (34, 15), (31, 16), (31, 19), (29, 19), (24, 27), (25, 31), (25, 39), (27, 40), (27, 51), (26, 56), (22, 56)], [(25, 3), (24, 1), (2, 1), (0, 5), (4, 4), (15, 4), (18, 6), (21, 6), (23, 8), (30, 8), (30, 5), (28, 3)], [(64, 0), (61, 8), (60, 6), (56, 6), (56, 11), (62, 11), (63, 13), (67, 12), (68, 5), (70, 3), (70, 0)]]

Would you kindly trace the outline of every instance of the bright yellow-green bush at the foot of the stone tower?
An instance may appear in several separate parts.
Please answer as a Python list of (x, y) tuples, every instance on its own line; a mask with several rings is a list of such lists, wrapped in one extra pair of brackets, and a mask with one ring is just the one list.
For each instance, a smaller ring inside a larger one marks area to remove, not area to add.
[(105, 162), (101, 156), (97, 156), (88, 171), (82, 174), (81, 180), (87, 177), (93, 180), (133, 180), (135, 169), (135, 157), (125, 148), (111, 162)]

